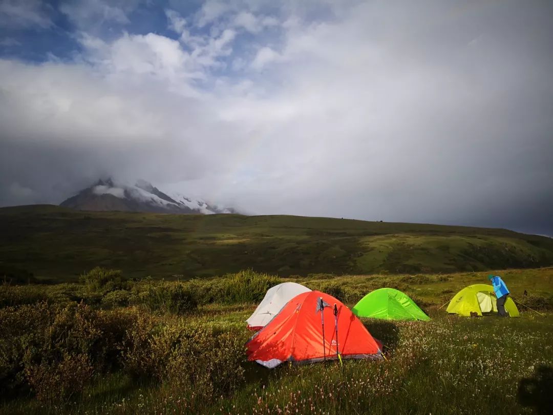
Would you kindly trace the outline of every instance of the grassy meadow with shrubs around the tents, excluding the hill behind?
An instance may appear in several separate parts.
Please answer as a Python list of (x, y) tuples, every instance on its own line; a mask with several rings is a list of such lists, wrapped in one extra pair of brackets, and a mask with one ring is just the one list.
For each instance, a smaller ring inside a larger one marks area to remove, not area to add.
[[(553, 268), (497, 271), (518, 319), (439, 307), (487, 272), (311, 274), (253, 271), (185, 282), (93, 269), (79, 282), (0, 288), (0, 413), (549, 413)], [(283, 281), (351, 307), (405, 290), (429, 322), (363, 319), (386, 361), (268, 370), (247, 362), (244, 320)], [(528, 296), (523, 297), (524, 290)], [(541, 412), (540, 412), (541, 411)]]

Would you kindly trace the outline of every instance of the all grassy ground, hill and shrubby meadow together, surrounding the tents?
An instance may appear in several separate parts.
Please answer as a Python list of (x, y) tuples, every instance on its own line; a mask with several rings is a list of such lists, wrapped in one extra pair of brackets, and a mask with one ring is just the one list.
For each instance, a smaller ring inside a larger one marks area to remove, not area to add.
[[(501, 229), (3, 208), (0, 413), (550, 413), (552, 266)], [(540, 314), (447, 315), (490, 269)], [(397, 288), (432, 320), (363, 320), (385, 361), (268, 370), (244, 320), (285, 281), (349, 307)]]

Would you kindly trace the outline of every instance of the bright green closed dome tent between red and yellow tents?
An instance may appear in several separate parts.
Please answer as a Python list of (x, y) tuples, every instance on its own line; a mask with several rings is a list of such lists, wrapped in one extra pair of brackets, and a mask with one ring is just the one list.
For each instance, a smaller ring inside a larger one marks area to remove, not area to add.
[(408, 295), (393, 288), (379, 288), (365, 295), (352, 309), (357, 317), (384, 320), (430, 320)]

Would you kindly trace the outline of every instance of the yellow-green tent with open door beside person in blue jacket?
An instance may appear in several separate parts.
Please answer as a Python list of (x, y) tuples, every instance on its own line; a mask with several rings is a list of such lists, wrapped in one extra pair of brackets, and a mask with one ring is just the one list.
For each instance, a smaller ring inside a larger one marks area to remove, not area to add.
[[(497, 298), (492, 286), (487, 284), (474, 284), (463, 288), (455, 294), (447, 306), (446, 311), (451, 314), (458, 314), (470, 317), (471, 312), (478, 315), (497, 313)], [(510, 317), (519, 317), (519, 311), (512, 298), (507, 297), (505, 311)]]

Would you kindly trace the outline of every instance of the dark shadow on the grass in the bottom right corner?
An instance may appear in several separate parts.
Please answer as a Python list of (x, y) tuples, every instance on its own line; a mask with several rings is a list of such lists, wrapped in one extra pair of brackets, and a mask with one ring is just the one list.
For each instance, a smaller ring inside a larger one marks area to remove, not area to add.
[(522, 406), (533, 407), (535, 413), (553, 411), (553, 368), (539, 365), (531, 377), (522, 378), (518, 387), (518, 401)]

